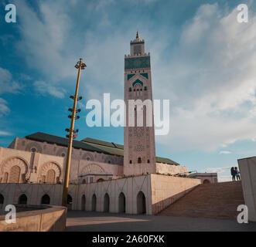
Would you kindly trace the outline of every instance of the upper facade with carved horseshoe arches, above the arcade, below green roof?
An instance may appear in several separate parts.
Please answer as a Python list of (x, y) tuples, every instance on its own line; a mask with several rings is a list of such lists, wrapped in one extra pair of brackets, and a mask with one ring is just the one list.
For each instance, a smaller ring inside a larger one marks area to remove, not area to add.
[[(0, 147), (1, 183), (46, 183), (63, 181), (66, 157)], [(17, 172), (15, 172), (15, 168)], [(98, 161), (72, 160), (71, 183), (91, 183), (121, 178), (123, 166)]]

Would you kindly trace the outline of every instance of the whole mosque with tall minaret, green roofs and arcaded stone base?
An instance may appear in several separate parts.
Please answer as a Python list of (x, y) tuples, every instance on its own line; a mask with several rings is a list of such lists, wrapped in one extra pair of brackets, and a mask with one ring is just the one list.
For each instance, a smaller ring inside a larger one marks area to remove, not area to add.
[[(152, 100), (145, 40), (137, 32), (130, 46), (131, 53), (125, 56), (125, 103)], [(135, 120), (137, 112), (138, 106)], [(16, 137), (8, 148), (0, 147), (0, 207), (8, 203), (61, 205), (67, 146), (67, 138), (37, 132)], [(69, 207), (155, 214), (203, 182), (200, 174), (183, 178), (188, 174), (188, 167), (155, 156), (154, 124), (148, 127), (145, 121), (141, 127), (124, 128), (124, 145), (89, 137), (73, 140)], [(214, 177), (210, 182), (217, 182), (217, 174), (210, 176)]]

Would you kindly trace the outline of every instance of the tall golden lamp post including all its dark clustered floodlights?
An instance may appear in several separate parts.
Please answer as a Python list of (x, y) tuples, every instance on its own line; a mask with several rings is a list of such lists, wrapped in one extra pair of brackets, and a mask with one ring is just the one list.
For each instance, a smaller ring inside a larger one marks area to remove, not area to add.
[(80, 59), (79, 62), (77, 62), (75, 68), (78, 69), (78, 75), (77, 75), (77, 86), (76, 86), (76, 92), (75, 95), (71, 95), (70, 99), (73, 100), (73, 109), (69, 109), (69, 111), (72, 113), (72, 115), (69, 115), (68, 117), (71, 119), (70, 123), (70, 129), (66, 129), (69, 134), (67, 134), (67, 138), (69, 138), (69, 145), (67, 149), (67, 163), (65, 167), (65, 174), (64, 174), (64, 182), (63, 182), (63, 194), (62, 194), (62, 205), (64, 207), (67, 207), (67, 195), (68, 195), (68, 185), (70, 181), (70, 161), (71, 161), (71, 154), (72, 154), (72, 144), (73, 144), (73, 138), (77, 137), (77, 132), (78, 130), (74, 130), (74, 123), (75, 120), (79, 119), (80, 117), (76, 117), (76, 113), (80, 112), (80, 109), (77, 110), (77, 101), (82, 100), (82, 97), (78, 97), (78, 88), (79, 88), (79, 83), (80, 83), (80, 73), (81, 69), (85, 69), (86, 64), (83, 63), (83, 59)]

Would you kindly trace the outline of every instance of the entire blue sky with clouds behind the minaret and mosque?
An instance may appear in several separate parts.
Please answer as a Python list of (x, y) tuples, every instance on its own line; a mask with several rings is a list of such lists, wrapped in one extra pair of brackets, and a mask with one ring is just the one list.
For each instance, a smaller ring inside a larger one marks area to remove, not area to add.
[[(5, 5), (17, 8), (5, 22)], [(247, 4), (248, 22), (237, 22)], [(61, 137), (80, 79), (77, 140), (123, 144), (122, 127), (88, 127), (87, 100), (124, 96), (124, 56), (136, 32), (151, 54), (154, 99), (170, 100), (170, 131), (156, 154), (230, 181), (256, 155), (256, 5), (213, 0), (12, 0), (0, 4), (0, 146), (44, 132)]]

